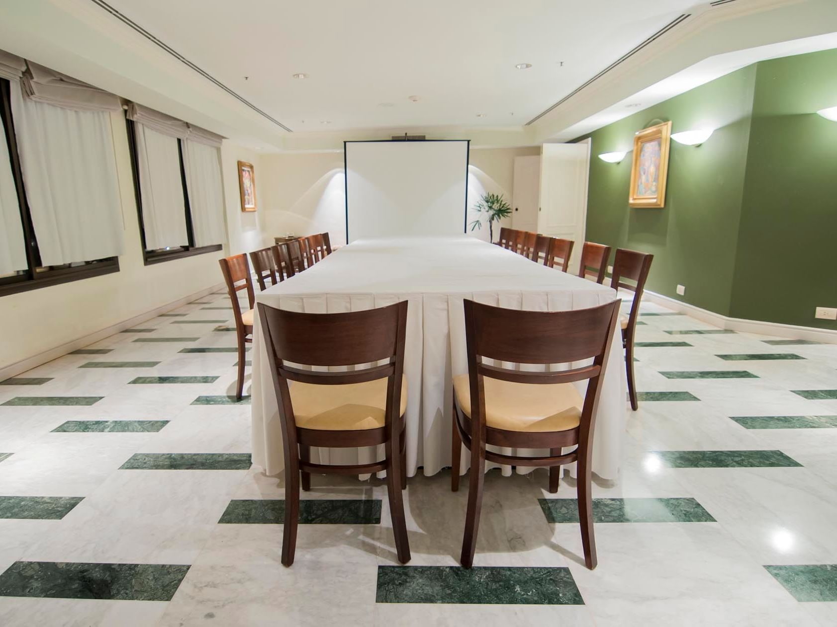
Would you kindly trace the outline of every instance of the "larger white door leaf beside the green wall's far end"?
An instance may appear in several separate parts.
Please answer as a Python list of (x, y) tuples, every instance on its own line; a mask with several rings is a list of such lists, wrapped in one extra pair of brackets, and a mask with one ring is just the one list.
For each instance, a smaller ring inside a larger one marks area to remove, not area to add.
[(587, 222), (590, 140), (578, 144), (544, 144), (541, 153), (541, 211), (537, 232), (571, 239), (570, 273), (578, 274)]

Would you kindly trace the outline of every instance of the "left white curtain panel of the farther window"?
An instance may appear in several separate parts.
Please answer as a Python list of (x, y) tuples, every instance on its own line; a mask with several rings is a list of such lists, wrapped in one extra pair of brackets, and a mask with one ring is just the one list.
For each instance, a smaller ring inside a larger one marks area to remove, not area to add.
[(135, 123), (146, 250), (188, 246), (177, 137)]

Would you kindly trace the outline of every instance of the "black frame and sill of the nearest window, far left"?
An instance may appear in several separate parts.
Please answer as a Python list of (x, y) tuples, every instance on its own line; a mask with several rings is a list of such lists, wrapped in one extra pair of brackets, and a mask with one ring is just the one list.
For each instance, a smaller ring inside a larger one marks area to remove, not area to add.
[(104, 259), (80, 262), (78, 265), (64, 264), (48, 267), (41, 265), (38, 239), (35, 237), (32, 215), (29, 212), (29, 204), (26, 198), (26, 188), (23, 185), (23, 171), (20, 166), (18, 140), (15, 135), (12, 116), (10, 84), (7, 79), (0, 79), (0, 117), (3, 118), (3, 125), (6, 128), (5, 136), (0, 140), (6, 142), (9, 159), (12, 162), (12, 177), (15, 191), (18, 194), (18, 208), (20, 209), (20, 221), (23, 227), (23, 246), (26, 248), (27, 261), (25, 272), (0, 277), (0, 297), (119, 272), (119, 257), (105, 257)]

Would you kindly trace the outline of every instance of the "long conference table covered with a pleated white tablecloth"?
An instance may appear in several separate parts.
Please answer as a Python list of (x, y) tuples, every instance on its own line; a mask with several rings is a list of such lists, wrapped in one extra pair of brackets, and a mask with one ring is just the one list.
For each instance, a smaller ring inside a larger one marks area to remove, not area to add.
[[(468, 371), (465, 298), (506, 308), (562, 311), (608, 303), (616, 292), (474, 237), (388, 237), (352, 242), (304, 272), (257, 293), (256, 303), (330, 314), (408, 300), (404, 374), (407, 468), (412, 477), (419, 468), (424, 475), (434, 475), (450, 466), (451, 380)], [(282, 434), (258, 312), (251, 352), (253, 462), (266, 474), (275, 475), (284, 470)], [(587, 384), (574, 385), (583, 394)], [(603, 479), (618, 477), (625, 397), (624, 353), (617, 332), (608, 354), (593, 437), (593, 472)], [(311, 461), (320, 463), (357, 464), (381, 458), (379, 451), (370, 449), (311, 449)], [(460, 472), (466, 471), (469, 460), (464, 450)], [(567, 466), (573, 475), (574, 466)], [(501, 467), (503, 474), (511, 474), (510, 467)], [(517, 468), (517, 472), (531, 470)]]

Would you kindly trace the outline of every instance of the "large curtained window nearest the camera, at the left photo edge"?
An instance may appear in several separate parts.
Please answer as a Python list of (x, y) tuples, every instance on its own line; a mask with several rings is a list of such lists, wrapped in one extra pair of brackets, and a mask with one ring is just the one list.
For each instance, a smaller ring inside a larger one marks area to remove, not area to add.
[(23, 95), (20, 63), (0, 73), (0, 296), (118, 272), (122, 248), (110, 114)]

